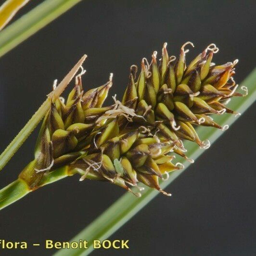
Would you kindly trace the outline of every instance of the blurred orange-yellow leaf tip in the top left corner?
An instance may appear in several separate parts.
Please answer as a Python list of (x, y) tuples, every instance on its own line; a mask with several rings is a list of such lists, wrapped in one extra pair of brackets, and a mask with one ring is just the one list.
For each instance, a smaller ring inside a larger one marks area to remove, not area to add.
[(29, 0), (6, 0), (0, 6), (0, 30), (8, 24), (13, 16), (28, 2)]

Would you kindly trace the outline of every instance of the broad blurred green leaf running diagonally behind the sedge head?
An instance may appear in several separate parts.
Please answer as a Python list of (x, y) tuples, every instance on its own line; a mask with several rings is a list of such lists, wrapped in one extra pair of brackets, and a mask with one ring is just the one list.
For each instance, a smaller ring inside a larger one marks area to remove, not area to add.
[[(242, 85), (248, 87), (249, 94), (247, 97), (241, 97), (239, 99), (233, 99), (229, 103), (229, 107), (237, 112), (243, 114), (243, 112), (252, 105), (256, 99), (256, 69), (243, 81)], [(237, 118), (233, 115), (218, 115), (215, 117), (220, 125), (231, 125)], [(199, 127), (197, 133), (201, 139), (208, 139), (211, 142), (216, 141), (223, 131), (215, 128)], [(185, 141), (185, 148), (188, 150), (188, 156), (196, 159), (204, 151), (199, 149), (195, 143)], [(180, 162), (185, 166), (183, 170), (172, 172), (170, 178), (161, 182), (161, 187), (166, 188), (174, 179), (176, 179), (190, 164), (184, 159)], [(79, 239), (85, 239), (89, 242), (88, 249), (61, 249), (55, 256), (77, 256), (88, 255), (93, 250), (93, 240), (104, 240), (124, 225), (130, 218), (132, 218), (138, 211), (147, 205), (157, 194), (157, 191), (146, 188), (141, 198), (136, 198), (130, 193), (126, 193), (120, 197), (113, 205), (111, 205), (102, 215), (96, 218), (90, 223), (88, 227), (77, 234), (71, 241), (79, 241)]]

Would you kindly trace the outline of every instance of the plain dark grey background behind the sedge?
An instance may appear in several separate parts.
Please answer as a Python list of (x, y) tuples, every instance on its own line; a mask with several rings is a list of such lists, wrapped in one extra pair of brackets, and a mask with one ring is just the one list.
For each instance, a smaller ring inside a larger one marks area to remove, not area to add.
[[(31, 1), (17, 17), (39, 2)], [(0, 59), (0, 150), (37, 110), (53, 80), (62, 79), (84, 53), (85, 88), (105, 83), (113, 72), (110, 95), (119, 99), (129, 66), (160, 52), (164, 42), (177, 55), (181, 44), (192, 41), (189, 59), (216, 43), (214, 62), (238, 58), (235, 78), (241, 83), (255, 67), (255, 9), (249, 0), (82, 1)], [(92, 255), (256, 255), (255, 117), (251, 107), (167, 188), (172, 197), (157, 196), (111, 236), (129, 239), (130, 250)], [(0, 187), (32, 159), (37, 131), (0, 172)], [(0, 239), (68, 241), (123, 193), (111, 184), (78, 182), (77, 176), (61, 180), (3, 209)]]

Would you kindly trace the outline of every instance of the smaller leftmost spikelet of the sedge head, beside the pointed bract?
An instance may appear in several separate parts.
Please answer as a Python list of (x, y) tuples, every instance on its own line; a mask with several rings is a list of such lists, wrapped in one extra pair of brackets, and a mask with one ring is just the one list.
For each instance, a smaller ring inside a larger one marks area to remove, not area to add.
[[(87, 118), (89, 109), (92, 110), (90, 113), (94, 115), (94, 119), (97, 119), (111, 108), (103, 111), (100, 108), (112, 86), (111, 80), (86, 93), (82, 91), (81, 76), (77, 76), (76, 80), (65, 104), (63, 98), (51, 103), (51, 109), (45, 116), (38, 135), (35, 159), (19, 175), (31, 189), (37, 188), (49, 171), (70, 164), (83, 154), (77, 148), (85, 147), (85, 139), (95, 129), (93, 118)], [(91, 106), (98, 106), (94, 113)]]

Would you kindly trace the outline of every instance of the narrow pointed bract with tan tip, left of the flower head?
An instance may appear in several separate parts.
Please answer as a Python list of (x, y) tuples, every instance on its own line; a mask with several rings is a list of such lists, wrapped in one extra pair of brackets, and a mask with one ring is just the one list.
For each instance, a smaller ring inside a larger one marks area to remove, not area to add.
[(0, 170), (8, 163), (8, 161), (12, 158), (13, 154), (20, 148), (26, 138), (30, 135), (30, 133), (36, 128), (40, 120), (46, 114), (48, 109), (51, 106), (51, 101), (54, 101), (57, 97), (61, 95), (66, 86), (69, 84), (71, 79), (76, 75), (77, 70), (83, 64), (86, 59), (86, 55), (84, 55), (77, 64), (71, 69), (71, 71), (64, 77), (64, 79), (60, 82), (57, 88), (52, 91), (45, 102), (38, 108), (38, 111), (30, 118), (30, 120), (26, 123), (24, 128), (20, 130), (17, 136), (13, 139), (13, 141), (7, 146), (2, 154), (0, 154)]

